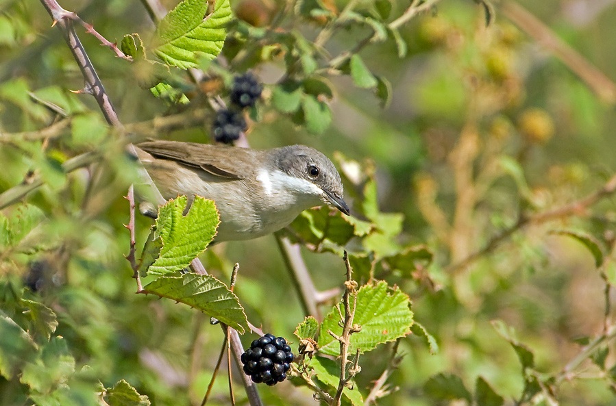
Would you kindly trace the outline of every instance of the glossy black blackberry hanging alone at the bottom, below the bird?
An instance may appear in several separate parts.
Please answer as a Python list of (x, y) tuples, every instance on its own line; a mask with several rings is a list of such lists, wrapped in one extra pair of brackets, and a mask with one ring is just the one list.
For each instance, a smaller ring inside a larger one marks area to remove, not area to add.
[(242, 364), (245, 374), (254, 382), (273, 386), (286, 379), (293, 358), (295, 355), (284, 338), (267, 333), (250, 344), (242, 354)]

